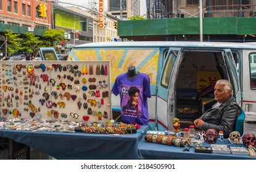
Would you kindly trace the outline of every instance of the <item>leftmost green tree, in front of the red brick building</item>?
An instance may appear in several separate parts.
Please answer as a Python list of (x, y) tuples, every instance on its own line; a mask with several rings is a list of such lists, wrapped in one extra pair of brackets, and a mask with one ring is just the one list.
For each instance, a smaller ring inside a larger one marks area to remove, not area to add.
[(23, 50), (22, 38), (20, 38), (20, 34), (14, 34), (13, 31), (8, 29), (6, 36), (8, 40), (7, 52), (9, 52), (10, 55), (14, 55), (15, 52)]

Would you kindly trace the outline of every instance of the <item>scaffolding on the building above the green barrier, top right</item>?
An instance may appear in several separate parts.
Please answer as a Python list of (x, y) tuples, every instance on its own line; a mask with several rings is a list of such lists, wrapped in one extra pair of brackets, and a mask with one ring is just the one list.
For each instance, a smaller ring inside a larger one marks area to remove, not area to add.
[[(199, 17), (200, 0), (146, 0), (147, 19)], [(256, 17), (256, 0), (202, 0), (203, 17)]]

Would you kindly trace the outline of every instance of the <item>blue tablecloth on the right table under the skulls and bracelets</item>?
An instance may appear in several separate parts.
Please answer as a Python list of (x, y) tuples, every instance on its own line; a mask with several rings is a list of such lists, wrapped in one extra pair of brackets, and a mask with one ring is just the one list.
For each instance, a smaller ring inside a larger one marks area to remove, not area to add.
[[(217, 141), (216, 144), (226, 144), (229, 146), (244, 146), (231, 144), (228, 139), (224, 141)], [(203, 146), (210, 146), (210, 144), (204, 143)], [(233, 155), (233, 154), (207, 154), (207, 153), (197, 153), (194, 151), (194, 148), (189, 149), (188, 151), (183, 151), (184, 147), (175, 147), (168, 146), (157, 143), (149, 143), (144, 141), (144, 138), (141, 138), (139, 141), (139, 154), (143, 159), (147, 160), (163, 160), (163, 159), (172, 159), (172, 160), (233, 160), (233, 159), (254, 159), (255, 157), (250, 157), (249, 155)], [(186, 146), (188, 148), (188, 146)]]

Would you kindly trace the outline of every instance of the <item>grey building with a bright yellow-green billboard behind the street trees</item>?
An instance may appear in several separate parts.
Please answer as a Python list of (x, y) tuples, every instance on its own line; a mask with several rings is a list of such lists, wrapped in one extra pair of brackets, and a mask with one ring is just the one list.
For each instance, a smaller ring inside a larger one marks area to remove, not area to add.
[(53, 28), (66, 31), (67, 39), (60, 50), (68, 53), (75, 45), (93, 42), (93, 17), (78, 7), (62, 7), (54, 4), (52, 12)]

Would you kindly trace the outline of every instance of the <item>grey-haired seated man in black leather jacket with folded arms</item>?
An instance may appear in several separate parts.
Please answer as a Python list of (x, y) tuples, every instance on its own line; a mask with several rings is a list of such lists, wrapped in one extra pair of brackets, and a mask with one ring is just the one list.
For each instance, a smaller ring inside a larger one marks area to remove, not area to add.
[(236, 127), (236, 119), (241, 114), (241, 109), (233, 97), (233, 88), (228, 80), (221, 79), (216, 82), (214, 96), (215, 108), (208, 109), (199, 119), (194, 120), (194, 125), (204, 131), (210, 128), (223, 131), (224, 138), (228, 138), (229, 133)]

